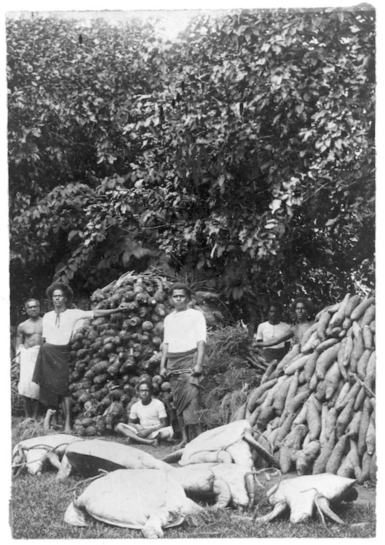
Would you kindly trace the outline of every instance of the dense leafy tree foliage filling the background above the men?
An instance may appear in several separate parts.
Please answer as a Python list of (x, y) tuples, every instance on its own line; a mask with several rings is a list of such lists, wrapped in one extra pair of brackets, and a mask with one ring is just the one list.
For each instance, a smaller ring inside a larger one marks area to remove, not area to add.
[(151, 22), (8, 21), (7, 40), (15, 302), (149, 264), (246, 320), (373, 287), (374, 11), (203, 15), (172, 44)]

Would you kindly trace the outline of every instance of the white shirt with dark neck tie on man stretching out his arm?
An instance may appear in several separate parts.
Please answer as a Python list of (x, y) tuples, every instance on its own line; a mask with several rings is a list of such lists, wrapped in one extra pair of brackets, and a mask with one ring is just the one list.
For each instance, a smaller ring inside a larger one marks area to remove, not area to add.
[(77, 320), (93, 317), (93, 310), (80, 308), (67, 308), (59, 314), (54, 310), (46, 312), (43, 316), (43, 337), (50, 344), (68, 344)]

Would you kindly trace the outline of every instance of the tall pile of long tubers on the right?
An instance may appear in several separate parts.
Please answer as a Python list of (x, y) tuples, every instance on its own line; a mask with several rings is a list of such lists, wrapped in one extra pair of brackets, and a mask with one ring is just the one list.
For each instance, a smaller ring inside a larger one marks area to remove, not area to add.
[(374, 297), (347, 294), (268, 366), (238, 418), (257, 428), (283, 473), (327, 471), (374, 483), (375, 358)]

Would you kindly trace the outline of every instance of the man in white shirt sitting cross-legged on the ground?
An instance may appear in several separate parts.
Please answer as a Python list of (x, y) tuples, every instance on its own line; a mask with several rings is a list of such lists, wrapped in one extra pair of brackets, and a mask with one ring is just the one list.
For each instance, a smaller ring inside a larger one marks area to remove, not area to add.
[(159, 444), (159, 440), (170, 441), (174, 431), (167, 425), (167, 413), (163, 402), (154, 399), (151, 381), (143, 380), (137, 387), (140, 400), (130, 410), (128, 424), (119, 422), (115, 431), (136, 443)]

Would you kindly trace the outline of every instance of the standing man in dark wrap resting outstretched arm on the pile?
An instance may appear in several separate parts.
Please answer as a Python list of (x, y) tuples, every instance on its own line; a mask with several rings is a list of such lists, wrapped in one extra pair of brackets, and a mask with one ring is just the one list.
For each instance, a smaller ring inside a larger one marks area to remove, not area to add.
[[(43, 316), (43, 344), (33, 374), (33, 381), (40, 385), (40, 401), (56, 409), (62, 403), (65, 424), (64, 433), (71, 432), (71, 396), (69, 393), (69, 342), (77, 320), (110, 316), (124, 311), (124, 306), (110, 309), (83, 311), (69, 308), (73, 291), (64, 282), (54, 282), (46, 290), (54, 310)], [(57, 417), (57, 414), (54, 415)]]

